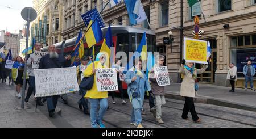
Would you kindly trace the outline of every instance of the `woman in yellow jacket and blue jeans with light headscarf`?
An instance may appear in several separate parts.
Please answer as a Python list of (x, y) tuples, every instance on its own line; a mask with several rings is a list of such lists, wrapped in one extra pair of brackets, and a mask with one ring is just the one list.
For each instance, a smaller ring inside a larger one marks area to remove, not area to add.
[[(96, 70), (107, 68), (105, 66), (106, 56), (103, 53), (98, 53), (96, 61), (91, 63), (84, 72), (84, 77), (94, 76), (94, 83), (91, 90), (86, 92), (85, 98), (89, 98), (90, 101), (90, 121), (92, 123), (92, 128), (105, 128), (102, 123), (103, 116), (108, 108), (108, 92), (98, 92), (96, 85)], [(93, 68), (94, 65), (94, 68)], [(98, 105), (100, 104), (100, 110), (98, 110)]]

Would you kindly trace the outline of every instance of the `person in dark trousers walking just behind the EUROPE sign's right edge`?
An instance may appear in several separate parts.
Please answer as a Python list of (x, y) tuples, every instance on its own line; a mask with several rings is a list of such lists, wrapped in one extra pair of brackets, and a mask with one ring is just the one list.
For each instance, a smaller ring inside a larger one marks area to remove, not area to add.
[[(125, 91), (122, 88), (122, 81), (120, 81), (119, 70), (120, 70), (121, 60), (119, 58), (115, 59), (115, 64), (112, 65), (112, 68), (115, 68), (117, 71), (117, 82), (118, 82), (118, 90), (121, 94), (122, 104), (126, 104), (127, 102), (124, 99)], [(115, 104), (115, 91), (111, 91), (112, 95), (112, 103)]]

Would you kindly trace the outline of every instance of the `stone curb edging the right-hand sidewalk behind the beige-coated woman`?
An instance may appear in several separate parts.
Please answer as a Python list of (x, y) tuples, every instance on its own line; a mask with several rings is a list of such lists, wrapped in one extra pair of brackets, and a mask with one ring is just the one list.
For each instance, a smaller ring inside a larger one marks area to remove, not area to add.
[[(184, 100), (183, 96), (180, 96), (178, 92), (171, 92), (166, 91), (166, 98), (170, 99), (176, 99), (176, 100)], [(254, 111), (256, 112), (256, 107), (254, 106), (248, 106), (241, 103), (235, 103), (235, 102), (229, 102), (225, 100), (219, 100), (215, 98), (205, 97), (205, 96), (197, 96), (195, 103), (203, 103), (203, 104), (213, 104), (216, 106), (223, 106), (223, 107), (229, 107), (229, 108), (237, 108), (237, 109), (243, 109), (247, 111)]]

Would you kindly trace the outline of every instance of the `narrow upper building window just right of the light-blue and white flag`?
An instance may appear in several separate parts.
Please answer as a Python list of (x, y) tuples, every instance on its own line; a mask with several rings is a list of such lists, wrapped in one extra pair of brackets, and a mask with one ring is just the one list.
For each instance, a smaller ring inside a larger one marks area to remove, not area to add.
[(169, 22), (169, 2), (161, 4), (161, 27), (166, 26)]

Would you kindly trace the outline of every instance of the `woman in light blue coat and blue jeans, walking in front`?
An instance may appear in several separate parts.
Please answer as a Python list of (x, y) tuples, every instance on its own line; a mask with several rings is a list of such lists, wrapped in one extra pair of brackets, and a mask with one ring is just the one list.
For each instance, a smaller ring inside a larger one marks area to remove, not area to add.
[(127, 93), (133, 106), (130, 124), (137, 126), (137, 128), (143, 128), (141, 109), (143, 108), (145, 91), (151, 92), (146, 74), (141, 69), (142, 60), (137, 59), (135, 60), (135, 67), (129, 69), (125, 77), (125, 82), (128, 84)]

